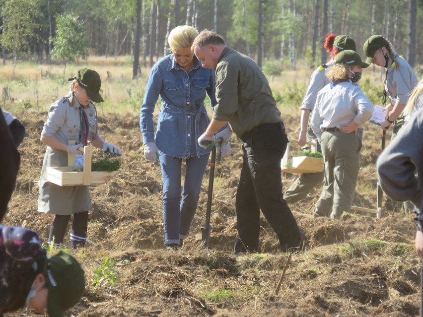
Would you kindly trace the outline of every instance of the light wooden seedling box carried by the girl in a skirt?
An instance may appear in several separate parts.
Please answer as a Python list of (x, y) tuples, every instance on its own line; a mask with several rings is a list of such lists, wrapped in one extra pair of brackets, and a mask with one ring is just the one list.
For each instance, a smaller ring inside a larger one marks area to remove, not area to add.
[[(91, 171), (92, 146), (84, 146), (83, 152), (84, 162), (82, 169), (75, 166), (75, 154), (68, 153), (68, 166), (48, 167), (47, 181), (59, 186), (99, 185), (106, 183), (120, 172), (119, 169), (110, 172)], [(111, 164), (107, 165), (110, 168)]]

